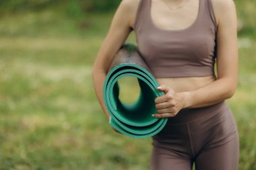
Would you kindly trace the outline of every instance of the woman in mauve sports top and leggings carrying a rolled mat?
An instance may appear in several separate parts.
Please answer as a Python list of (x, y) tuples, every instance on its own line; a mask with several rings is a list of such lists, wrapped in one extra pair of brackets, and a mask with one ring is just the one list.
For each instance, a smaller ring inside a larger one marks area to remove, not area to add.
[(193, 163), (199, 170), (237, 169), (238, 132), (225, 103), (236, 89), (236, 22), (232, 0), (121, 1), (94, 62), (94, 88), (109, 118), (102, 98), (106, 71), (135, 31), (165, 93), (155, 99), (152, 116), (168, 118), (153, 136), (151, 169), (192, 169)]

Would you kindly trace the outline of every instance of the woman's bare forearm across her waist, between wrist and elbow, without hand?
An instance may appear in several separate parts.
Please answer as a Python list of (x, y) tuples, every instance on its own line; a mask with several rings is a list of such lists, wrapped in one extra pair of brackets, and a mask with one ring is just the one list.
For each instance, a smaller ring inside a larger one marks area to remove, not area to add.
[(180, 95), (185, 97), (184, 108), (201, 108), (232, 97), (235, 90), (234, 80), (222, 78), (195, 91), (182, 92)]

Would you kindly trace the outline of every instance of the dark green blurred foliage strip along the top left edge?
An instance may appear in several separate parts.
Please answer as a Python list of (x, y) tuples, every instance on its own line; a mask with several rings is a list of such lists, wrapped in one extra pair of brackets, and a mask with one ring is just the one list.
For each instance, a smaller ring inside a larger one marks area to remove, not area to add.
[(41, 11), (49, 7), (63, 7), (69, 15), (77, 16), (90, 11), (110, 11), (115, 9), (121, 0), (9, 0), (0, 1), (1, 12), (13, 13), (24, 11)]

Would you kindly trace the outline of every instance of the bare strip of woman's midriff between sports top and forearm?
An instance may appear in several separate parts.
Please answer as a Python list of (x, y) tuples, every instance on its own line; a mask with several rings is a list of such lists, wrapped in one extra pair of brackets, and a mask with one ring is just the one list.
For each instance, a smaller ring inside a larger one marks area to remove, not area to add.
[(179, 78), (158, 78), (160, 85), (164, 84), (175, 92), (193, 91), (216, 81), (216, 76), (207, 77), (179, 77)]

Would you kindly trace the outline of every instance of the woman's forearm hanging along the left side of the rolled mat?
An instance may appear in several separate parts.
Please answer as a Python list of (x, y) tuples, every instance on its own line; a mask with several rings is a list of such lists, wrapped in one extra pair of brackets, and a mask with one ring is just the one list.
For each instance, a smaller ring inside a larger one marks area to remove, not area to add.
[(110, 115), (108, 114), (108, 111), (106, 110), (106, 106), (104, 104), (104, 99), (103, 99), (103, 85), (104, 85), (104, 80), (106, 79), (106, 73), (100, 69), (93, 69), (92, 70), (92, 79), (94, 82), (94, 91), (96, 93), (96, 96), (98, 98), (100, 106), (101, 106), (104, 114), (106, 115), (106, 118), (109, 120)]

